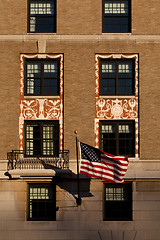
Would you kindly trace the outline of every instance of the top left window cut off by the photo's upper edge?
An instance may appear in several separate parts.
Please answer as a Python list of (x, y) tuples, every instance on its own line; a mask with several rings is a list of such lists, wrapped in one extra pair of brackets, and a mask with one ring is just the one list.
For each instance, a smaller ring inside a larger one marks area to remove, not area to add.
[(28, 32), (56, 32), (56, 3), (53, 0), (29, 0)]

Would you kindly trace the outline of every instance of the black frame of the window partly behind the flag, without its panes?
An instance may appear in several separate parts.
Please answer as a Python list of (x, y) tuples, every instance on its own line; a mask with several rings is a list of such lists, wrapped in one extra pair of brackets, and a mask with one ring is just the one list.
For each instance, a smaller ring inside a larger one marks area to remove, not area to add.
[[(126, 124), (126, 125), (131, 125), (132, 126), (132, 154), (128, 155), (128, 157), (135, 157), (135, 120), (100, 120), (99, 122), (99, 147), (100, 149), (103, 149), (102, 145), (102, 125), (114, 125), (116, 130), (115, 130), (115, 138), (114, 140), (116, 141), (116, 153), (113, 155), (119, 155), (119, 131), (118, 127), (121, 124)], [(127, 139), (127, 138), (125, 138)], [(127, 148), (126, 148), (127, 149)], [(105, 151), (105, 150), (104, 150)], [(108, 153), (110, 153), (108, 151)], [(122, 154), (122, 155), (127, 155), (127, 154)]]

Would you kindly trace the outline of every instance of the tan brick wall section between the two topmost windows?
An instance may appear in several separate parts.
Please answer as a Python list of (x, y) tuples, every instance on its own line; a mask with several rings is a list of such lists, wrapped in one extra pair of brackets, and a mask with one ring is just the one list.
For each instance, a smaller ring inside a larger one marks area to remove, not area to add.
[(101, 1), (57, 1), (58, 34), (101, 34)]

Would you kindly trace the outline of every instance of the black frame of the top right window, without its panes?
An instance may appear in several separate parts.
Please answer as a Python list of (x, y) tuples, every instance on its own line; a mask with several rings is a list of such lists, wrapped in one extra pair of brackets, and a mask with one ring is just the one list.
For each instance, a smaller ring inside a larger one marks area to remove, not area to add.
[[(115, 31), (105, 31), (105, 18), (107, 18), (107, 16), (105, 16), (105, 13), (104, 13), (104, 9), (105, 9), (105, 2), (107, 0), (102, 0), (102, 33), (131, 33), (131, 19), (132, 19), (132, 16), (131, 16), (131, 0), (123, 0), (123, 1), (126, 1), (128, 2), (128, 31), (127, 32), (124, 32), (124, 31), (119, 31), (119, 32), (115, 32)], [(113, 2), (119, 2), (120, 0), (110, 0), (110, 1), (113, 1)], [(107, 15), (107, 14), (106, 14)], [(126, 16), (126, 15), (124, 15)], [(109, 15), (108, 17), (123, 17), (122, 14), (117, 14), (116, 15)]]

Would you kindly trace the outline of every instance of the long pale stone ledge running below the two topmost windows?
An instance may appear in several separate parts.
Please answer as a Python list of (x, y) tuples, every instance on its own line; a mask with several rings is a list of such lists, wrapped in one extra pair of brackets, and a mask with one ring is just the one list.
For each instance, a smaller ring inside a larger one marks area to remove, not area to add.
[(160, 35), (134, 35), (124, 33), (103, 33), (103, 34), (1, 34), (0, 41), (71, 41), (71, 42), (103, 42), (103, 41), (132, 41), (138, 43), (159, 43)]

